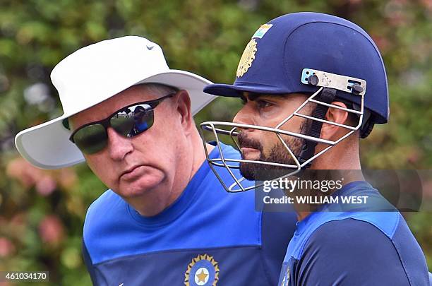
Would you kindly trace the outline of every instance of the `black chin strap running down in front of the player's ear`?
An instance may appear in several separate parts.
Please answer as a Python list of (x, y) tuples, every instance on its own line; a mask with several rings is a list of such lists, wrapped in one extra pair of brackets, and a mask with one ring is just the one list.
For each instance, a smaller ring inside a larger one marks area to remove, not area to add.
[[(321, 90), (320, 95), (317, 97), (318, 100), (325, 103), (332, 103), (336, 97), (336, 89), (335, 88), (323, 88)], [(318, 105), (313, 112), (313, 117), (318, 119), (325, 119), (325, 114), (327, 114), (328, 106)], [(318, 120), (313, 120), (311, 126), (309, 127), (306, 135), (312, 136), (315, 138), (320, 138), (321, 127), (323, 126), (323, 122)], [(315, 147), (318, 144), (316, 141), (309, 141), (304, 139), (303, 144), (301, 145), (301, 151), (299, 154), (299, 162), (303, 164), (307, 160), (309, 160), (313, 155), (315, 155)], [(311, 167), (311, 162), (306, 164), (301, 169), (308, 169)]]

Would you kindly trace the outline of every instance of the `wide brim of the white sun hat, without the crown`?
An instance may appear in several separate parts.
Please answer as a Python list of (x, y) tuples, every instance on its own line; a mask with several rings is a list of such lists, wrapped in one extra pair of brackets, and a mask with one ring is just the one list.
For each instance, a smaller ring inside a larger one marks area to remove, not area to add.
[[(203, 92), (205, 85), (209, 85), (212, 82), (188, 71), (169, 70), (145, 78), (143, 81), (139, 81), (133, 85), (141, 83), (162, 83), (181, 90), (187, 90), (191, 97), (191, 112), (193, 115), (215, 99), (215, 96)], [(130, 88), (130, 86), (126, 87), (125, 90), (127, 88)], [(112, 96), (114, 95), (116, 94)], [(76, 113), (78, 112), (64, 114), (61, 117), (18, 133), (15, 137), (18, 152), (32, 165), (42, 169), (59, 169), (83, 162), (85, 160), (83, 153), (80, 152), (75, 144), (69, 141), (71, 131), (66, 129), (62, 124), (64, 119)]]

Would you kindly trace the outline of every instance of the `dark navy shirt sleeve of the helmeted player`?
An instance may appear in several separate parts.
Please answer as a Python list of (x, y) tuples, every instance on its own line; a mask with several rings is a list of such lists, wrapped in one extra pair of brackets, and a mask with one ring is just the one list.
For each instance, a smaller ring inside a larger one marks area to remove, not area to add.
[(409, 285), (391, 240), (368, 222), (352, 218), (318, 227), (297, 270), (296, 285)]

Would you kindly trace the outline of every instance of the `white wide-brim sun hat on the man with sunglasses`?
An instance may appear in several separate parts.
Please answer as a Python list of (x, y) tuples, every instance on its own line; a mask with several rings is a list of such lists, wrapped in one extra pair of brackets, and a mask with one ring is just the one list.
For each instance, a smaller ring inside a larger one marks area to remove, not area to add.
[(104, 40), (78, 49), (54, 67), (51, 80), (59, 91), (64, 114), (18, 133), (18, 152), (32, 165), (57, 169), (83, 162), (62, 123), (73, 114), (107, 100), (133, 85), (162, 83), (187, 90), (196, 114), (215, 96), (203, 92), (211, 82), (188, 71), (169, 69), (159, 45), (143, 37)]

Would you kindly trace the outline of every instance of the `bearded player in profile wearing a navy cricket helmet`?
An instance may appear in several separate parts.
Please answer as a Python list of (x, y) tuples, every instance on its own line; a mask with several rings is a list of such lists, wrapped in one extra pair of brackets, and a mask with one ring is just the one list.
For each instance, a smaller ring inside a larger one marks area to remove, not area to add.
[[(236, 76), (233, 85), (205, 88), (244, 102), (234, 123), (203, 123), (237, 135), (242, 159), (220, 160), (240, 162), (246, 179), (274, 179), (274, 169), (284, 169), (306, 183), (294, 192), (281, 186), (299, 223), (278, 285), (428, 285), (424, 254), (404, 218), (361, 174), (359, 139), (389, 117), (385, 67), (371, 37), (335, 16), (280, 16), (251, 37)], [(319, 186), (328, 182), (322, 174), (335, 182), (331, 196)], [(318, 181), (315, 192), (305, 179)], [(354, 198), (368, 203), (343, 203)]]

